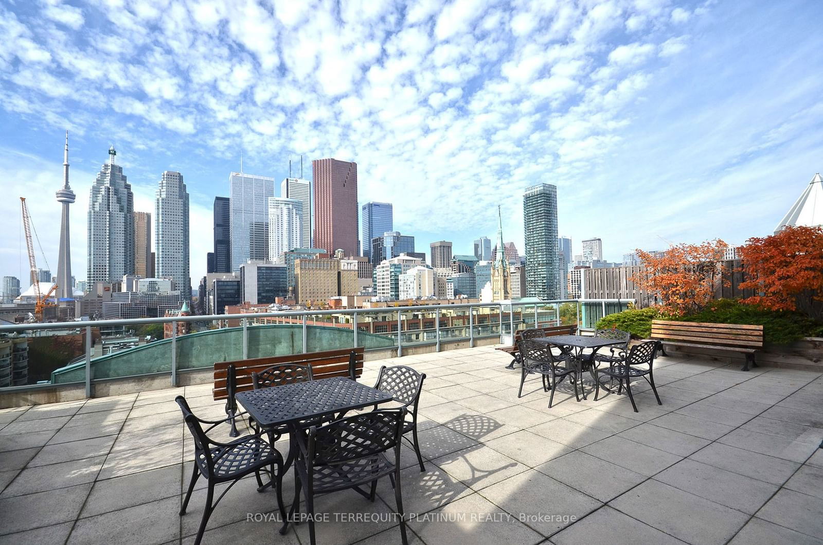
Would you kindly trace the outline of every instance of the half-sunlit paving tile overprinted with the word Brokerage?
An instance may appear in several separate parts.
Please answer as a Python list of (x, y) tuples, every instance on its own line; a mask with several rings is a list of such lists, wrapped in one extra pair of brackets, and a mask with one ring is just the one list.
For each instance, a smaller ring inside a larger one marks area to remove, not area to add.
[[(484, 488), (481, 496), (545, 536), (582, 519), (602, 505), (583, 492), (534, 469)], [(546, 503), (546, 498), (563, 498)]]

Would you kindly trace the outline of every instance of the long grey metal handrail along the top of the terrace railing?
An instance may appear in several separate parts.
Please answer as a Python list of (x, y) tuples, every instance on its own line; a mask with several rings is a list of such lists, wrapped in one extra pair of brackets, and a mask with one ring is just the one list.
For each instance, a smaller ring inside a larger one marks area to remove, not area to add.
[(630, 303), (633, 299), (557, 299), (557, 300), (528, 300), (518, 301), (497, 301), (494, 303), (456, 303), (453, 305), (412, 305), (412, 306), (384, 306), (374, 309), (336, 309), (336, 310), (276, 310), (274, 312), (253, 312), (249, 314), (202, 314), (191, 316), (158, 316), (156, 318), (133, 318), (133, 319), (102, 319), (102, 320), (75, 320), (73, 322), (46, 322), (41, 324), (8, 324), (0, 325), (0, 333), (38, 331), (45, 329), (79, 329), (98, 328), (114, 325), (143, 325), (143, 324), (170, 324), (171, 322), (213, 322), (217, 320), (230, 319), (255, 319), (255, 318), (289, 318), (292, 316), (322, 316), (329, 314), (376, 314), (379, 312), (403, 312), (407, 310), (437, 310), (437, 309), (461, 309), (461, 308), (481, 308), (509, 306), (532, 306), (532, 305), (556, 305), (558, 303)]

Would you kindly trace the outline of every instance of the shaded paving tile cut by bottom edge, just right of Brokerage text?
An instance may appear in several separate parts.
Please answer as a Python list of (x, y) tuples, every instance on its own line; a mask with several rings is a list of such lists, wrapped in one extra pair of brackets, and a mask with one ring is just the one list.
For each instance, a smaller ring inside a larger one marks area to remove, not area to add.
[(629, 515), (611, 509), (608, 505), (551, 536), (556, 545), (580, 545), (580, 543), (611, 543), (619, 536), (621, 543), (659, 543), (681, 545), (681, 540), (653, 529)]

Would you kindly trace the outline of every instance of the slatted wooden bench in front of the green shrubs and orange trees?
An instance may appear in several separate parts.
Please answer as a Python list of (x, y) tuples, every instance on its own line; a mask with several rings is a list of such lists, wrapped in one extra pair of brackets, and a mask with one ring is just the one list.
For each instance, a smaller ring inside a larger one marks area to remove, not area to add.
[(746, 356), (742, 370), (749, 365), (757, 367), (755, 352), (763, 348), (763, 326), (747, 324), (709, 324), (705, 322), (674, 322), (652, 320), (652, 337), (658, 341), (663, 356), (663, 344), (676, 347), (712, 348), (727, 352), (741, 352)]

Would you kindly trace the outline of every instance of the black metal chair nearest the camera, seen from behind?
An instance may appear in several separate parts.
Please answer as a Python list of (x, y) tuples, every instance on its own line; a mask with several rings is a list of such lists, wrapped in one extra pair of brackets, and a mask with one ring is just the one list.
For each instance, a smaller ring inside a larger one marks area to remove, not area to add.
[[(298, 519), (300, 490), (305, 489), (309, 540), (315, 545), (315, 496), (351, 488), (374, 501), (378, 479), (388, 475), (398, 504), (402, 543), (407, 545), (406, 518), (400, 490), (400, 443), (405, 418), (405, 408), (361, 412), (326, 426), (312, 426), (307, 433), (301, 431), (296, 434), (300, 454), (295, 461), (295, 499), (285, 520)], [(388, 457), (386, 454), (392, 449), (393, 456)], [(368, 492), (360, 488), (367, 484), (371, 485)], [(281, 533), (287, 530), (286, 525)]]

